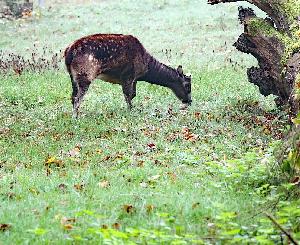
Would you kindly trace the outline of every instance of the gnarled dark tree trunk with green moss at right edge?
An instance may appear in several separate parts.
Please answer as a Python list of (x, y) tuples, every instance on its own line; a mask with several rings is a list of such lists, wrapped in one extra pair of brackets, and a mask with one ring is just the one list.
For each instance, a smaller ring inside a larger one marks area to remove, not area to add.
[[(245, 1), (254, 4), (268, 17), (259, 18), (251, 8), (239, 7), (244, 26), (234, 46), (253, 55), (258, 67), (251, 67), (249, 82), (267, 96), (276, 95), (278, 106), (288, 105), (294, 127), (285, 152), (294, 166), (300, 167), (300, 0), (208, 0), (209, 4)], [(287, 158), (286, 158), (287, 159)]]

